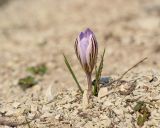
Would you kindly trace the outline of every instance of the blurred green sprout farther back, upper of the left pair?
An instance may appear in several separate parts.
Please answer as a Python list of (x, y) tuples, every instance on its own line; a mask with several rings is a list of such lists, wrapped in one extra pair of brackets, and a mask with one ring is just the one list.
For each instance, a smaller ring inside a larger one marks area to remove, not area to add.
[(37, 66), (28, 67), (27, 71), (31, 72), (34, 75), (44, 75), (47, 72), (47, 67), (45, 64), (40, 64)]

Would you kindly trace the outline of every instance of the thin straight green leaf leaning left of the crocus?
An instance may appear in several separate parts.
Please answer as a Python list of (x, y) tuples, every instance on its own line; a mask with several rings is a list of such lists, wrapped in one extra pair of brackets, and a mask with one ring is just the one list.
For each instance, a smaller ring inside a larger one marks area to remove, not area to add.
[(63, 54), (63, 57), (64, 57), (64, 62), (65, 62), (65, 64), (66, 64), (67, 68), (69, 69), (69, 71), (70, 71), (70, 73), (71, 73), (74, 81), (76, 82), (76, 84), (77, 84), (77, 86), (78, 86), (78, 89), (79, 89), (79, 90), (81, 91), (81, 93), (83, 94), (83, 90), (82, 90), (82, 88), (81, 88), (81, 86), (80, 86), (80, 84), (79, 84), (79, 82), (78, 82), (78, 80), (77, 80), (77, 78), (76, 78), (76, 76), (75, 76), (75, 74), (74, 74), (74, 72), (73, 72), (73, 70), (72, 70), (72, 68), (71, 68), (71, 66), (70, 66), (70, 64), (69, 64), (69, 62), (68, 62), (68, 60), (67, 60), (67, 58), (66, 58), (66, 56), (65, 56), (64, 54)]

